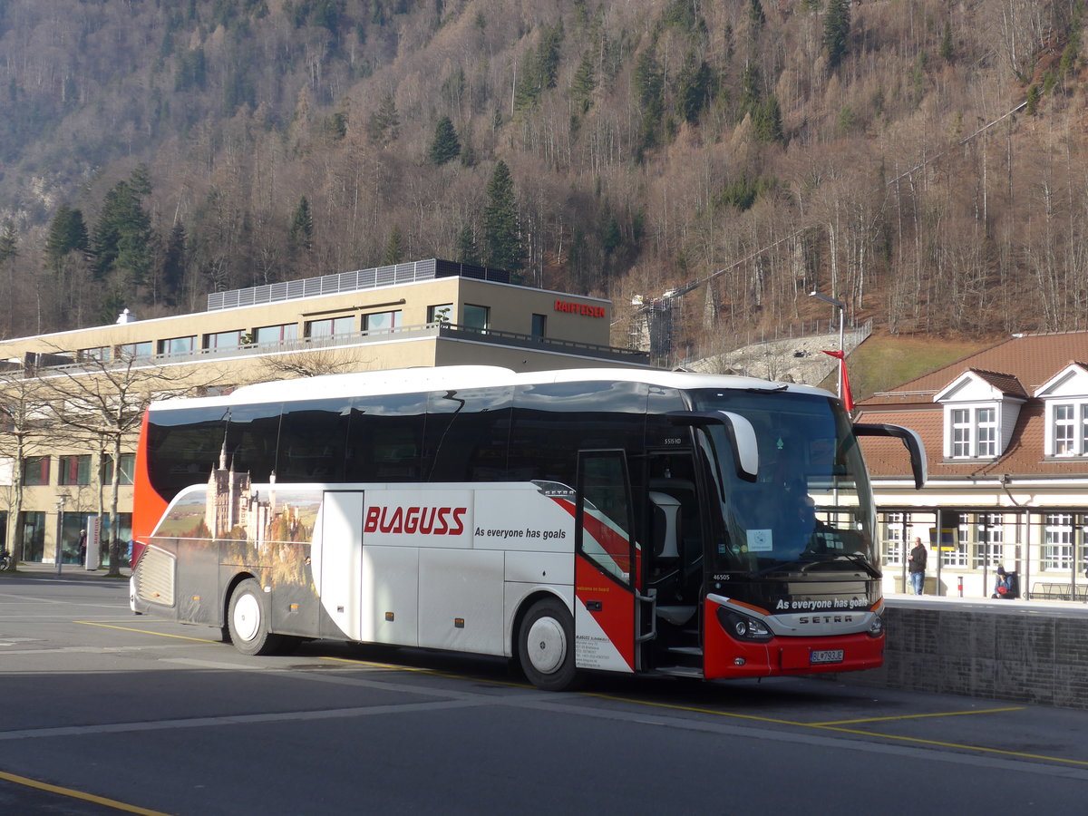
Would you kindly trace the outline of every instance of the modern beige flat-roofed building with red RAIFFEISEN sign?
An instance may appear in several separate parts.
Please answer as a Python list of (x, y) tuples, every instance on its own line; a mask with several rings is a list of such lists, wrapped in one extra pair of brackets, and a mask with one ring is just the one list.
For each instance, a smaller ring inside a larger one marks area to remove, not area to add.
[[(12, 394), (28, 381), (77, 391), (112, 381), (119, 393), (131, 388), (145, 399), (420, 366), (648, 367), (645, 353), (608, 345), (610, 322), (607, 300), (431, 259), (214, 293), (206, 311), (191, 314), (139, 320), (125, 310), (112, 325), (0, 341), (0, 542), (10, 542), (20, 560), (55, 562), (59, 539), (63, 561), (75, 564), (81, 529), (109, 502), (102, 484), (111, 481), (112, 456), (101, 444), (53, 432), (16, 460)], [(124, 436), (119, 529), (127, 540), (135, 434)]]

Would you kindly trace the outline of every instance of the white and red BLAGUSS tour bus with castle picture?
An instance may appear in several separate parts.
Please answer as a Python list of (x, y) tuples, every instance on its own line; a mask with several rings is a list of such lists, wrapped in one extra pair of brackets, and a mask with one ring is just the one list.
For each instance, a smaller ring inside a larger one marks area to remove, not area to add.
[(132, 606), (246, 654), (338, 639), (582, 670), (879, 666), (875, 509), (818, 388), (651, 370), (448, 367), (154, 403)]

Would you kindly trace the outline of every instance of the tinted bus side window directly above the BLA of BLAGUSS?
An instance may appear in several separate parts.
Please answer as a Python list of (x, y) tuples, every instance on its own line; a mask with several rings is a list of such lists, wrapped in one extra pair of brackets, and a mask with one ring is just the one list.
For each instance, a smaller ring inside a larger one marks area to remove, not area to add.
[(422, 480), (426, 394), (357, 397), (348, 421), (348, 482)]

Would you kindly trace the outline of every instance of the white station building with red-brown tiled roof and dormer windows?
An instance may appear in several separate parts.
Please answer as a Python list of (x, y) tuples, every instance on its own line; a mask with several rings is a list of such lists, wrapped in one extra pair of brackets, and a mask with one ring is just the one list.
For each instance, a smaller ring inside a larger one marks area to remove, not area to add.
[(880, 509), (886, 591), (904, 553), (928, 552), (926, 593), (1088, 599), (1088, 332), (1017, 334), (858, 404), (857, 421), (916, 431), (929, 478), (915, 491), (902, 446), (865, 438)]

